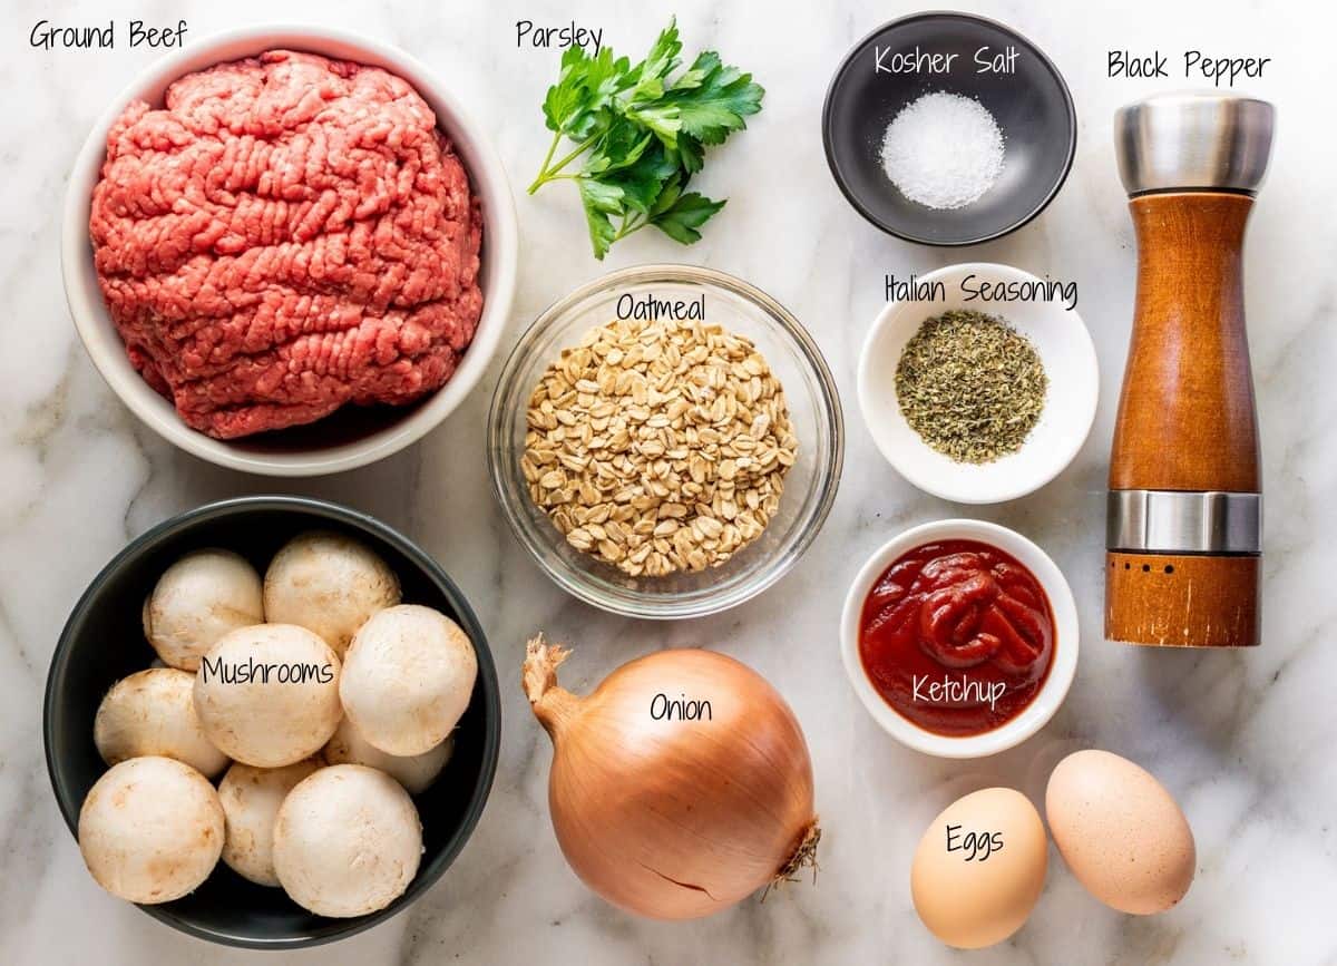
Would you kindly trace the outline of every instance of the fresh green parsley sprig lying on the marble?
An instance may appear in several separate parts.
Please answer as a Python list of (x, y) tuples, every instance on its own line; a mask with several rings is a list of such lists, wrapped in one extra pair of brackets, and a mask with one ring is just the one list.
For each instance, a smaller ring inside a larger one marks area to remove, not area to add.
[[(743, 130), (766, 91), (714, 51), (702, 51), (670, 78), (682, 64), (681, 52), (677, 19), (635, 66), (607, 47), (594, 56), (571, 47), (543, 99), (552, 144), (529, 194), (574, 181), (595, 258), (647, 225), (691, 245), (725, 206), (687, 185), (701, 171), (706, 147)], [(559, 158), (563, 139), (575, 147)], [(570, 170), (578, 161), (579, 169)]]

